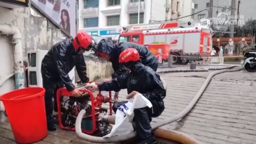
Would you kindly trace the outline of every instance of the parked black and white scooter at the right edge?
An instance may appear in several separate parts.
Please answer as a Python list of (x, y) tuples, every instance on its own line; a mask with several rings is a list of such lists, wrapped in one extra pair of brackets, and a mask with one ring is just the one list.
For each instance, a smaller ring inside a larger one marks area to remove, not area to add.
[(244, 68), (248, 72), (256, 72), (256, 50), (247, 50), (244, 58), (246, 58), (242, 64)]

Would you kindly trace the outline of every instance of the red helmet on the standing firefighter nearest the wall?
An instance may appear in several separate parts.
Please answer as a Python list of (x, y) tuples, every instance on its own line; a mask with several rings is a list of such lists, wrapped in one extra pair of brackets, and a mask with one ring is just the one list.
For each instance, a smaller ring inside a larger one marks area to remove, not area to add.
[(92, 38), (86, 32), (78, 32), (74, 37), (74, 48), (78, 50), (78, 48), (83, 48), (84, 50), (88, 50), (90, 45), (92, 45)]

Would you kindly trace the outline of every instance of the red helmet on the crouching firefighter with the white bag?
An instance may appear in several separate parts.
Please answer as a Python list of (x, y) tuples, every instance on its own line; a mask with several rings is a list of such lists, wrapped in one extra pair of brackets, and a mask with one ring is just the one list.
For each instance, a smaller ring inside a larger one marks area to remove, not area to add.
[(140, 54), (135, 48), (127, 48), (119, 55), (119, 63), (137, 62)]

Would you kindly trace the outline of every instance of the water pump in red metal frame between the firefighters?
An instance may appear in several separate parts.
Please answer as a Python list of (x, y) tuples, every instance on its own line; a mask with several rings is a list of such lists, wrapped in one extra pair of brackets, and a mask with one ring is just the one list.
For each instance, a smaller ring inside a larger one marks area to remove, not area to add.
[(104, 136), (108, 134), (112, 127), (108, 122), (102, 120), (101, 116), (107, 114), (108, 109), (102, 108), (102, 103), (109, 103), (110, 115), (112, 115), (112, 98), (103, 96), (100, 92), (97, 96), (86, 89), (86, 85), (79, 86), (82, 92), (81, 97), (72, 96), (66, 88), (60, 88), (57, 91), (58, 119), (59, 126), (64, 130), (75, 131), (76, 118), (80, 110), (86, 110), (82, 120), (82, 132), (94, 136)]

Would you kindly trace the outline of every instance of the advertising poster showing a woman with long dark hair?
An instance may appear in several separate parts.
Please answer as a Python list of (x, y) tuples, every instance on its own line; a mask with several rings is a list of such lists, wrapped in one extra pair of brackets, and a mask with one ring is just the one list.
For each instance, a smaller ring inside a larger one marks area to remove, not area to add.
[(31, 4), (67, 34), (76, 35), (76, 0), (31, 0)]

